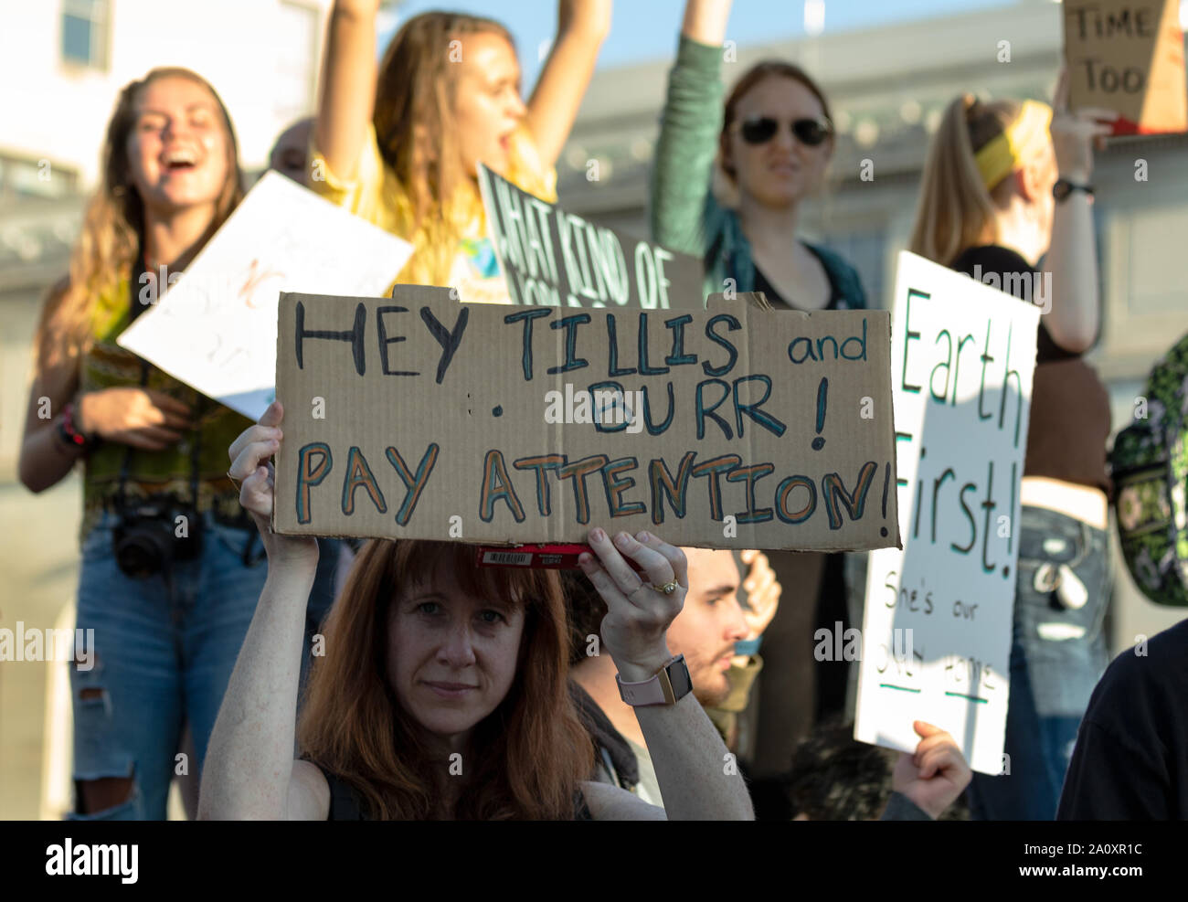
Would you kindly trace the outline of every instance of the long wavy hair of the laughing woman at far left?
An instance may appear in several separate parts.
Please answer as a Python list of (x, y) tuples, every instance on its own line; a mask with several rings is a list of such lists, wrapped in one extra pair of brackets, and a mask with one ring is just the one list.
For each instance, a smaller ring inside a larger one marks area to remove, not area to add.
[(210, 83), (197, 72), (177, 67), (153, 69), (120, 92), (103, 140), (102, 178), (87, 204), (78, 240), (70, 257), (70, 276), (46, 295), (37, 327), (38, 371), (81, 358), (90, 348), (90, 316), (100, 294), (128, 278), (144, 240), (145, 207), (127, 159), (128, 134), (135, 126), (137, 96), (159, 78), (189, 78), (214, 97), (227, 130), (227, 181), (222, 187), (202, 241), (206, 242), (244, 198), (239, 145), (230, 114)]

